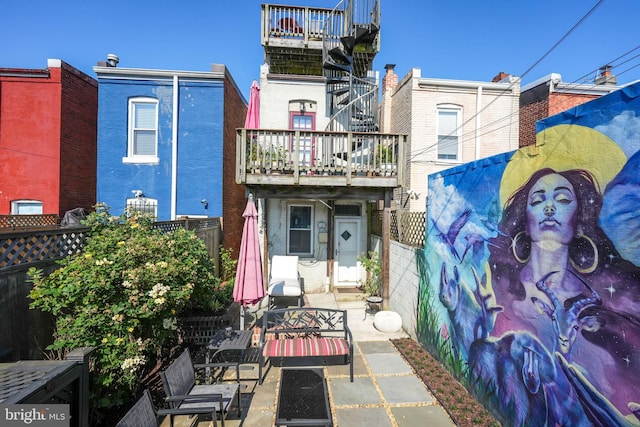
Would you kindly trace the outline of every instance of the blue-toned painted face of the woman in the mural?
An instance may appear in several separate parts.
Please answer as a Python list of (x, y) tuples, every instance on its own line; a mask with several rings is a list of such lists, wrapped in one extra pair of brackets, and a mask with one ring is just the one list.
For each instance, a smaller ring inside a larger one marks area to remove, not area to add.
[(532, 242), (568, 245), (574, 237), (578, 202), (573, 185), (562, 175), (540, 178), (529, 190), (527, 234)]

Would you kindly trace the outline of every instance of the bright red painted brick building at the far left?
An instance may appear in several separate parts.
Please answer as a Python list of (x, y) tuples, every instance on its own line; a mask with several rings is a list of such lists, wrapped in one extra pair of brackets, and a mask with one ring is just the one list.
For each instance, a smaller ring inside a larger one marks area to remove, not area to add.
[(0, 68), (0, 214), (96, 202), (98, 83), (59, 59)]

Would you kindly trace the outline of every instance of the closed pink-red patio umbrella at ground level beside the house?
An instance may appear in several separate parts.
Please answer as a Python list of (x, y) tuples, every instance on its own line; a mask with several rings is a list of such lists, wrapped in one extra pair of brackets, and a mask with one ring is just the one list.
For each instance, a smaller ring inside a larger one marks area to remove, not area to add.
[(249, 195), (249, 201), (242, 216), (244, 217), (244, 227), (240, 253), (238, 254), (236, 280), (233, 286), (233, 300), (242, 305), (240, 329), (244, 329), (244, 308), (249, 304), (260, 302), (265, 296), (262, 257), (260, 256), (258, 239), (258, 211), (253, 202), (253, 195)]

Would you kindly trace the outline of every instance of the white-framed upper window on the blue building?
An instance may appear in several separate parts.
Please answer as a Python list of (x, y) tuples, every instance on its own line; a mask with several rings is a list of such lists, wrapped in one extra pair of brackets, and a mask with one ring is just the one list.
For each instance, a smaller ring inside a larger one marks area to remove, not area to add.
[(158, 163), (158, 100), (129, 99), (127, 157), (124, 163)]

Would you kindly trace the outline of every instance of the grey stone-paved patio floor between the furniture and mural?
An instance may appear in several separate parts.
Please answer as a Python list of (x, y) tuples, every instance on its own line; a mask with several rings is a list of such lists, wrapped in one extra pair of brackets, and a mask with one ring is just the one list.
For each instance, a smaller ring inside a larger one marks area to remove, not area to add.
[[(337, 296), (337, 298), (336, 298)], [(446, 411), (429, 393), (411, 367), (402, 359), (390, 339), (407, 337), (404, 331), (382, 333), (373, 326), (373, 316), (364, 317), (362, 295), (307, 294), (305, 304), (312, 307), (339, 308), (348, 311), (349, 326), (355, 341), (354, 382), (349, 380), (349, 365), (322, 367), (327, 380), (331, 417), (334, 426), (454, 426)], [(266, 300), (263, 301), (266, 306)], [(257, 310), (260, 317), (262, 306)], [(253, 314), (255, 308), (252, 308)], [(247, 322), (252, 323), (252, 322)], [(262, 385), (257, 382), (257, 364), (243, 370), (242, 417), (230, 413), (227, 427), (264, 427), (275, 423), (280, 383), (279, 367), (269, 367)], [(182, 423), (180, 423), (182, 422)], [(168, 426), (168, 420), (163, 426)], [(176, 426), (189, 425), (176, 419)], [(205, 421), (200, 427), (212, 425)]]

